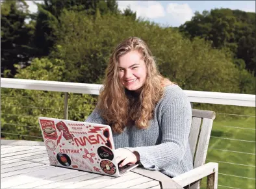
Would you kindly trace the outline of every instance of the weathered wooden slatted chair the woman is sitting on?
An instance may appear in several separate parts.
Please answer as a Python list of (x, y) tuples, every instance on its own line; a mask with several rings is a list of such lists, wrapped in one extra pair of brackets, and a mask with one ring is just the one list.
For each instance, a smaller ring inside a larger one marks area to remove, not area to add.
[(215, 112), (192, 109), (189, 144), (194, 158), (194, 169), (173, 177), (173, 181), (182, 187), (198, 189), (201, 179), (207, 177), (207, 188), (218, 188), (218, 163), (205, 164), (214, 119)]

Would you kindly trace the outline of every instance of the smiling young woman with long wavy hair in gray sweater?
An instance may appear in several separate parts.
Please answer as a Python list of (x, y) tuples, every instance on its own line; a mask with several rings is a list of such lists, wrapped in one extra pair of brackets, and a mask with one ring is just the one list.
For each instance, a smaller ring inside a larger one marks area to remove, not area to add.
[(109, 60), (96, 109), (86, 122), (112, 127), (118, 162), (140, 162), (175, 177), (192, 170), (192, 110), (183, 90), (162, 77), (146, 43), (130, 37)]

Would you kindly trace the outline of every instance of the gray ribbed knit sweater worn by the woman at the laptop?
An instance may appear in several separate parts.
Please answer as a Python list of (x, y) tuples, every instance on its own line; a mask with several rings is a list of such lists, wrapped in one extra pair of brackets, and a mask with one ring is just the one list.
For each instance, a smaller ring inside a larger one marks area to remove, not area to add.
[[(166, 86), (149, 127), (126, 127), (122, 134), (113, 134), (115, 149), (137, 151), (144, 168), (175, 177), (193, 168), (188, 144), (191, 120), (190, 102), (183, 90), (175, 84)], [(105, 124), (98, 110), (86, 122)]]

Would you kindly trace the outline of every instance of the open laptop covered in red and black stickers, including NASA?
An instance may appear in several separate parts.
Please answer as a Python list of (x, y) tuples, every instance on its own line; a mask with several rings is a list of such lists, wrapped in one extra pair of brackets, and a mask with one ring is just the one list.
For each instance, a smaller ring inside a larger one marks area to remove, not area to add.
[(109, 125), (39, 117), (53, 166), (120, 177), (138, 164), (119, 168)]

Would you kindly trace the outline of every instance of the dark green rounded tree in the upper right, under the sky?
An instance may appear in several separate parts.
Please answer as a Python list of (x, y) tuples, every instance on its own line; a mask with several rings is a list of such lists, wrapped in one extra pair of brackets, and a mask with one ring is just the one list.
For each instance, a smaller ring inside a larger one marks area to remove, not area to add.
[(255, 13), (228, 8), (196, 12), (179, 30), (191, 40), (198, 36), (212, 41), (213, 47), (228, 47), (234, 58), (244, 60), (246, 69), (255, 73)]

